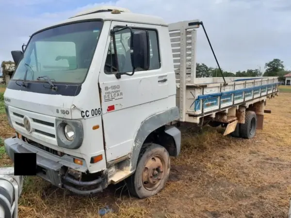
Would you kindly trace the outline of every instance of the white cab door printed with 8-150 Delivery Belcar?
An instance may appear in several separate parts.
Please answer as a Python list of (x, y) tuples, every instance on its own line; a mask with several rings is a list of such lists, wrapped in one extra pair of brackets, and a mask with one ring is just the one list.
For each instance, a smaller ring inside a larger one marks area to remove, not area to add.
[(106, 50), (103, 57), (103, 67), (99, 75), (105, 152), (108, 162), (130, 155), (135, 134), (141, 123), (150, 115), (168, 107), (168, 73), (161, 67), (162, 54), (159, 40), (161, 27), (113, 21), (110, 29), (115, 30), (126, 25), (132, 25), (133, 31), (149, 31), (150, 68), (147, 71), (136, 71), (132, 76), (122, 75), (117, 79), (114, 75), (116, 71), (132, 73), (128, 43), (130, 31), (126, 29), (115, 33), (116, 49), (109, 36), (106, 45), (108, 52)]

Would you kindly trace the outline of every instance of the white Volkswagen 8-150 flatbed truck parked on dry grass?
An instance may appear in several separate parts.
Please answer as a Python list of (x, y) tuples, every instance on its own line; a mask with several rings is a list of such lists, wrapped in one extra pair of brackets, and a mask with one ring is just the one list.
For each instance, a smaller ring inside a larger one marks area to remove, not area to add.
[(33, 33), (12, 51), (8, 156), (36, 153), (38, 176), (78, 194), (125, 180), (146, 198), (165, 186), (181, 122), (252, 138), (278, 78), (195, 78), (202, 24), (103, 6)]

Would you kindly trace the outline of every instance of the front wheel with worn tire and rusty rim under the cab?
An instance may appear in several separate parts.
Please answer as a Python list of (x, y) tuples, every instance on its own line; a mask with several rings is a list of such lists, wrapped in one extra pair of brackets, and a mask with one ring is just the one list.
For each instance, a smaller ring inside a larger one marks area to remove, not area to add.
[(170, 156), (161, 145), (143, 145), (134, 174), (127, 179), (129, 192), (140, 199), (156, 195), (164, 187), (170, 174)]

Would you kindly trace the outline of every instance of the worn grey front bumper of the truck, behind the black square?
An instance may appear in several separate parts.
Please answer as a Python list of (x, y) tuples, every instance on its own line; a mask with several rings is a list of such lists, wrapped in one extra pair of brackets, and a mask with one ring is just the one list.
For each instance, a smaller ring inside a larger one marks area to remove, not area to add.
[[(103, 190), (103, 179), (98, 177), (97, 179), (90, 181), (80, 181), (66, 172), (68, 168), (78, 170), (81, 172), (87, 172), (88, 169), (85, 166), (80, 166), (73, 162), (73, 157), (64, 155), (56, 156), (40, 148), (32, 146), (18, 138), (9, 138), (4, 140), (4, 146), (7, 155), (14, 160), (15, 153), (36, 153), (36, 165), (37, 176), (49, 181), (51, 184), (66, 188), (74, 193), (81, 195), (89, 195)], [(90, 189), (91, 186), (97, 186)], [(80, 187), (87, 187), (86, 190), (81, 190)]]

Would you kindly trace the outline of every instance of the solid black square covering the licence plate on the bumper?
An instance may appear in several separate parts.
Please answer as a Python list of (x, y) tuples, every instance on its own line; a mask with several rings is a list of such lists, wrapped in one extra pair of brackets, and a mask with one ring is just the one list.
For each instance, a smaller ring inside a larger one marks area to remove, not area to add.
[(36, 175), (36, 153), (14, 153), (14, 175)]

